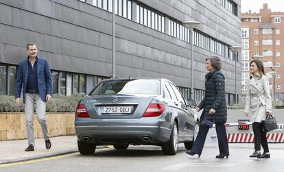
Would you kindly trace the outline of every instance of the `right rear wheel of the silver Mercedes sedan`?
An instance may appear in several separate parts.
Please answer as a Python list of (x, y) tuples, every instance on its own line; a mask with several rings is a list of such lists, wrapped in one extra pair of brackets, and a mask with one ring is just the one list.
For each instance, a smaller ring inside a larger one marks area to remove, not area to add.
[(174, 123), (173, 130), (171, 130), (171, 138), (162, 146), (165, 155), (176, 155), (178, 152), (178, 127)]

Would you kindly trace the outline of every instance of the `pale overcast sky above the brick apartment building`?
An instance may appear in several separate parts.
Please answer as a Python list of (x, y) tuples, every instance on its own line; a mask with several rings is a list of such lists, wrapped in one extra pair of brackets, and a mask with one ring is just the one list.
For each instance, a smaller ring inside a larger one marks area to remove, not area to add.
[(241, 12), (259, 12), (259, 9), (263, 8), (263, 3), (268, 3), (268, 8), (272, 12), (284, 12), (284, 1), (283, 0), (241, 0)]

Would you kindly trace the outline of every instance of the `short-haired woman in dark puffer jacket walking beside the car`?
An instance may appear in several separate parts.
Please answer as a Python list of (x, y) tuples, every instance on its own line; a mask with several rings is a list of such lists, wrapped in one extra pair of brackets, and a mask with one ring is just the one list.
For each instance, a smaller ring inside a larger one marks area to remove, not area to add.
[(209, 130), (209, 125), (203, 123), (205, 120), (215, 123), (216, 126), (220, 151), (216, 158), (224, 158), (225, 156), (228, 158), (229, 156), (228, 139), (224, 126), (224, 123), (227, 121), (225, 77), (220, 72), (221, 66), (220, 58), (215, 56), (206, 58), (206, 69), (209, 73), (205, 75), (205, 97), (198, 105), (198, 108), (196, 108), (198, 112), (203, 109), (203, 112), (200, 116), (198, 136), (193, 143), (192, 149), (187, 151), (187, 154), (191, 156), (198, 154), (199, 158), (202, 153)]

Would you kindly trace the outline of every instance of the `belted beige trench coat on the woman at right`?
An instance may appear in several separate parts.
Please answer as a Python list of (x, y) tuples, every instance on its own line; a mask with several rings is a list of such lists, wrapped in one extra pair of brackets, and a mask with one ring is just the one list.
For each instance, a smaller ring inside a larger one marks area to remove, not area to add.
[(263, 75), (260, 78), (258, 75), (251, 75), (247, 88), (245, 112), (250, 112), (251, 108), (252, 122), (260, 123), (265, 120), (265, 112), (272, 112), (268, 77)]

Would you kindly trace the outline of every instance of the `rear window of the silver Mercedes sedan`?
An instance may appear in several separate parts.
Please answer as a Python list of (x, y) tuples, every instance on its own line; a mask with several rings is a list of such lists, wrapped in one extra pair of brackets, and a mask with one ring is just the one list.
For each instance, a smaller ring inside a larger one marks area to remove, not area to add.
[(160, 95), (160, 90), (157, 79), (109, 80), (97, 85), (90, 95)]

